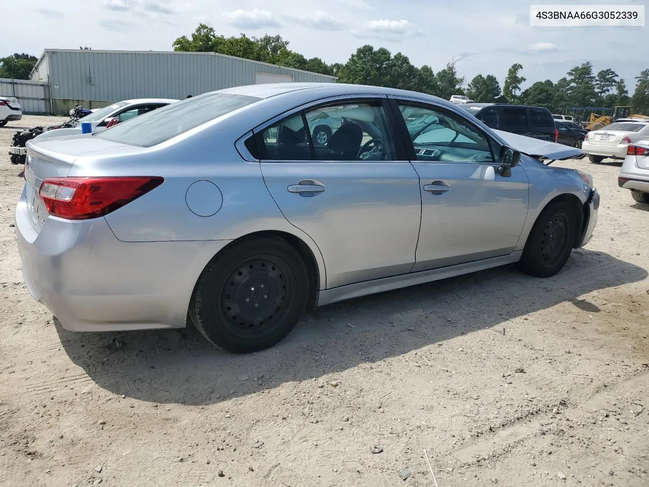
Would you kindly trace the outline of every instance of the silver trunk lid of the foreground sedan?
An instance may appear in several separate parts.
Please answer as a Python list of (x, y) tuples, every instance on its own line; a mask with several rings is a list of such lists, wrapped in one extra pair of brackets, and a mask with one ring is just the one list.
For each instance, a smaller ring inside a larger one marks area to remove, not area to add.
[(132, 153), (138, 149), (140, 147), (92, 138), (92, 134), (53, 138), (41, 142), (37, 139), (27, 141), (25, 193), (27, 210), (34, 231), (40, 232), (49, 216), (38, 194), (45, 179), (67, 177), (75, 160), (80, 157), (107, 154), (112, 156)]

